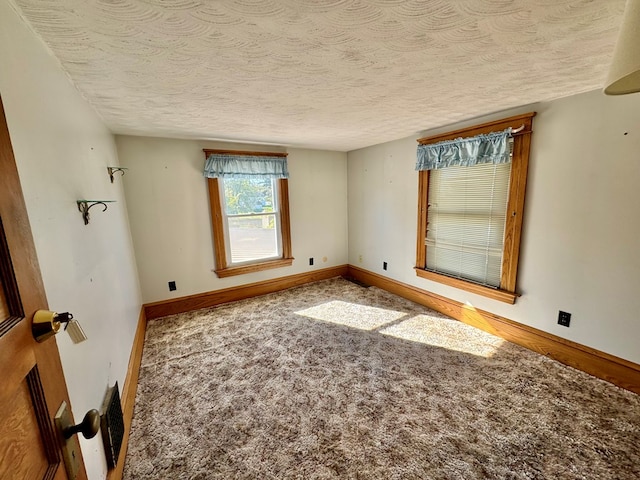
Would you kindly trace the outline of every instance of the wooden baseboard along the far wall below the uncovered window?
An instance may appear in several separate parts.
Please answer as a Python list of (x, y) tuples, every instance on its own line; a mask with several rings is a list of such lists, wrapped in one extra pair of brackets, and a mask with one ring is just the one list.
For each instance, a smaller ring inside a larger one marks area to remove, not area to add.
[(208, 308), (222, 303), (235, 302), (236, 300), (265, 295), (267, 293), (273, 293), (279, 290), (304, 285), (305, 283), (339, 277), (346, 275), (347, 271), (347, 265), (323, 268), (321, 270), (274, 278), (263, 282), (250, 283), (222, 290), (214, 290), (212, 292), (199, 293), (197, 295), (189, 295), (187, 297), (147, 303), (144, 305), (144, 309), (147, 320), (151, 320), (153, 318), (166, 317), (167, 315), (175, 315), (176, 313), (189, 312), (191, 310), (198, 310), (199, 308)]

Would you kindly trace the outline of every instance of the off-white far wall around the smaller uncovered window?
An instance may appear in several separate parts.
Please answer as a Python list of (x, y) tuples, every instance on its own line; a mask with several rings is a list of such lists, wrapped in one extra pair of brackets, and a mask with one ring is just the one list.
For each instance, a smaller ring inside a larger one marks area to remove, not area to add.
[[(288, 149), (291, 267), (220, 279), (215, 268), (203, 148), (273, 147), (117, 136), (145, 302), (347, 263), (347, 155)], [(309, 266), (314, 257), (314, 266)], [(326, 257), (327, 260), (323, 261)], [(167, 282), (177, 290), (169, 292)]]

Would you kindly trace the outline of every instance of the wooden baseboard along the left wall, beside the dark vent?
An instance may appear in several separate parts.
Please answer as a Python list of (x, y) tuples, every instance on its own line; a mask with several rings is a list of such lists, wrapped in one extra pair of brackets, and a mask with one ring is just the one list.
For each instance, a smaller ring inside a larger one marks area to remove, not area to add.
[(140, 317), (138, 318), (138, 327), (133, 338), (133, 346), (131, 347), (131, 355), (129, 356), (129, 366), (127, 367), (127, 378), (124, 380), (122, 389), (122, 414), (124, 416), (124, 438), (122, 447), (120, 448), (120, 457), (115, 468), (107, 473), (107, 480), (121, 480), (124, 469), (124, 461), (127, 456), (127, 447), (129, 446), (129, 432), (131, 431), (131, 420), (133, 419), (133, 405), (136, 400), (136, 391), (138, 389), (138, 375), (140, 374), (140, 362), (142, 361), (142, 349), (144, 347), (144, 334), (147, 330), (147, 317), (145, 316), (144, 306), (140, 309)]

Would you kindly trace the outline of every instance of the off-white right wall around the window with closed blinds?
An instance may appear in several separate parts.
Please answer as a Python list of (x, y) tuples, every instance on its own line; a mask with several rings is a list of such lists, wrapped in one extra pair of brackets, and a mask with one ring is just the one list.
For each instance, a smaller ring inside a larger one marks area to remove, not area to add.
[[(507, 305), (418, 278), (416, 139), (532, 110), (522, 296)], [(640, 363), (638, 152), (640, 94), (599, 91), (349, 152), (349, 263)], [(558, 310), (573, 314), (568, 329)]]

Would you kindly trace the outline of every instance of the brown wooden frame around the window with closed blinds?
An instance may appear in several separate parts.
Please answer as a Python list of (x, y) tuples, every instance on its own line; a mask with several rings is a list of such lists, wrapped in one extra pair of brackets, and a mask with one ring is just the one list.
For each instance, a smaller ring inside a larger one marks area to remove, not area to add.
[(513, 134), (513, 159), (511, 163), (511, 179), (509, 182), (509, 198), (507, 201), (507, 218), (505, 222), (504, 246), (502, 253), (502, 271), (499, 288), (479, 285), (471, 281), (449, 277), (440, 273), (425, 270), (427, 264), (427, 207), (429, 197), (429, 172), (418, 172), (418, 232), (416, 247), (416, 274), (421, 278), (443, 283), (468, 292), (476, 293), (494, 300), (514, 304), (519, 296), (516, 293), (518, 259), (520, 256), (520, 240), (522, 236), (522, 220), (524, 213), (524, 197), (527, 187), (527, 170), (529, 167), (529, 151), (531, 148), (531, 132), (535, 112), (483, 123), (469, 128), (455, 130), (440, 135), (418, 139), (420, 145), (454, 140), (460, 137), (473, 137), (483, 133), (497, 132), (512, 127), (514, 130), (524, 126)]

